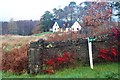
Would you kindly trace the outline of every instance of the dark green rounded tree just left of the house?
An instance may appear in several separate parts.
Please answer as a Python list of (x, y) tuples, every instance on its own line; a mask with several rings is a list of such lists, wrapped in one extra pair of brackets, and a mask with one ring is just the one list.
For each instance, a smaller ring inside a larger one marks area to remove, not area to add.
[(52, 26), (53, 14), (46, 11), (40, 19), (40, 26), (42, 31), (49, 31)]

